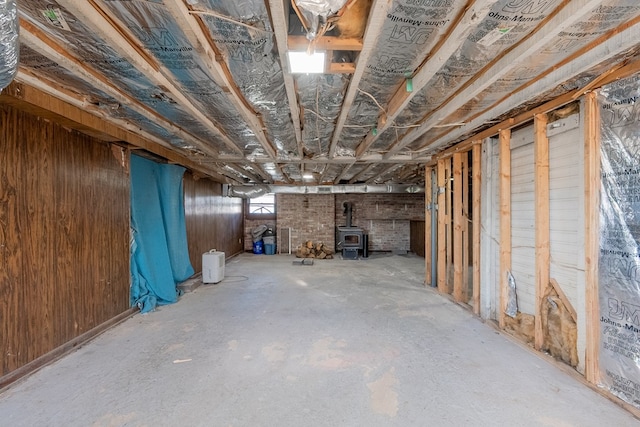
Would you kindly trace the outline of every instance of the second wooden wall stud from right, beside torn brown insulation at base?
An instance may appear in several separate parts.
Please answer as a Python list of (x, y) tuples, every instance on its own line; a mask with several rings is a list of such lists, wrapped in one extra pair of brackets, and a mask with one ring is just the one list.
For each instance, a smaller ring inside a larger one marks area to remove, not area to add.
[(540, 350), (544, 344), (542, 331), (542, 297), (549, 285), (549, 139), (547, 138), (547, 115), (534, 118), (534, 164), (535, 164), (535, 322), (534, 346)]

